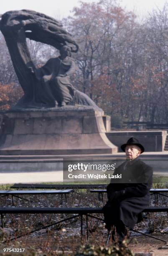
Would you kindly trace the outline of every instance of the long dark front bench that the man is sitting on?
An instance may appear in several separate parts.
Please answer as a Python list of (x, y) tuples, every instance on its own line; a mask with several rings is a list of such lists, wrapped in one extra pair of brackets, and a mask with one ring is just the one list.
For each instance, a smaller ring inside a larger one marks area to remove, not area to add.
[[(148, 207), (145, 210), (143, 210), (143, 212), (168, 212), (168, 207)], [(55, 223), (46, 225), (42, 228), (38, 228), (36, 230), (32, 230), (31, 232), (28, 232), (24, 235), (20, 235), (14, 238), (11, 238), (11, 240), (14, 240), (16, 238), (20, 238), (21, 236), (25, 236), (25, 235), (29, 235), (31, 233), (34, 233), (38, 230), (41, 229), (45, 229), (45, 228), (49, 228), (53, 225), (62, 223), (66, 220), (70, 220), (76, 217), (80, 217), (81, 219), (81, 236), (83, 236), (83, 215), (86, 216), (86, 226), (87, 226), (87, 238), (89, 237), (89, 230), (88, 230), (88, 217), (90, 218), (95, 218), (97, 220), (102, 220), (104, 221), (104, 219), (102, 218), (98, 218), (97, 216), (93, 216), (90, 214), (95, 214), (95, 213), (103, 213), (103, 210), (101, 207), (69, 207), (69, 208), (65, 208), (65, 207), (0, 207), (0, 215), (1, 215), (1, 225), (2, 228), (4, 227), (3, 225), (3, 215), (4, 214), (75, 214), (69, 218), (57, 221)], [(136, 230), (134, 230), (136, 232)], [(139, 233), (139, 232), (138, 232)], [(143, 233), (142, 233), (143, 234)], [(147, 234), (143, 234), (146, 236), (150, 236)], [(153, 236), (150, 236), (153, 237)], [(155, 238), (155, 237), (153, 237)], [(159, 239), (159, 238), (155, 238), (155, 239)], [(162, 239), (159, 239), (161, 241), (164, 241)], [(5, 243), (6, 241), (4, 241), (3, 243)], [(164, 241), (166, 242), (166, 241)]]

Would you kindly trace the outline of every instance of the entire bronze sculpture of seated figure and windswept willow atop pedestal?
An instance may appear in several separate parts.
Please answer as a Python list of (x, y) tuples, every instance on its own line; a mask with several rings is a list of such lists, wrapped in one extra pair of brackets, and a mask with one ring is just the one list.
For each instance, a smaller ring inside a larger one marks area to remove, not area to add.
[[(71, 53), (77, 52), (79, 46), (59, 21), (32, 10), (8, 11), (2, 15), (0, 30), (24, 92), (16, 108), (54, 108), (71, 102), (98, 108), (71, 84), (70, 75), (76, 70)], [(60, 56), (36, 68), (26, 38), (55, 47)]]

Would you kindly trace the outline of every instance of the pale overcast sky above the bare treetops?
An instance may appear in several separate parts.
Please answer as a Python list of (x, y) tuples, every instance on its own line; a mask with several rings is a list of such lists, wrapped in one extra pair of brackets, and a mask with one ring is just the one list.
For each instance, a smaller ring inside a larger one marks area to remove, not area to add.
[[(94, 2), (98, 2), (95, 0)], [(1, 0), (0, 14), (8, 10), (29, 9), (61, 20), (70, 14), (75, 6), (79, 6), (79, 0)], [(93, 0), (83, 0), (83, 2), (93, 2)], [(166, 0), (118, 0), (122, 7), (127, 10), (134, 10), (137, 15), (144, 17), (154, 8), (162, 9)]]

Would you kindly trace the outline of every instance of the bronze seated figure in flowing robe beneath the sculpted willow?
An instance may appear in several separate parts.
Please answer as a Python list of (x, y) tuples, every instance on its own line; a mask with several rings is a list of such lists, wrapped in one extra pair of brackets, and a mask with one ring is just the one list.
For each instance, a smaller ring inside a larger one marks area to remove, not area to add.
[(36, 70), (36, 78), (41, 81), (43, 98), (41, 101), (48, 105), (63, 107), (74, 98), (74, 87), (70, 82), (70, 75), (76, 70), (74, 59), (71, 58), (71, 48), (62, 46), (60, 56), (52, 58)]

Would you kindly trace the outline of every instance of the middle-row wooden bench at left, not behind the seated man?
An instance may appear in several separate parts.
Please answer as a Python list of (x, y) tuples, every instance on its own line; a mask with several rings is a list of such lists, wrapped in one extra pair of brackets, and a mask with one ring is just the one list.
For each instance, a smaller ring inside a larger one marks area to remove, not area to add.
[(73, 192), (73, 189), (62, 189), (62, 190), (0, 190), (0, 195), (5, 196), (12, 196), (12, 204), (14, 205), (13, 202), (13, 197), (18, 197), (20, 199), (30, 201), (26, 198), (19, 197), (18, 195), (61, 195), (61, 204), (63, 202), (63, 195), (65, 195), (65, 201), (67, 202), (66, 195)]

